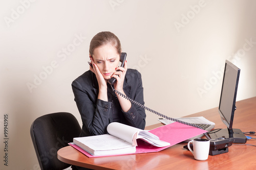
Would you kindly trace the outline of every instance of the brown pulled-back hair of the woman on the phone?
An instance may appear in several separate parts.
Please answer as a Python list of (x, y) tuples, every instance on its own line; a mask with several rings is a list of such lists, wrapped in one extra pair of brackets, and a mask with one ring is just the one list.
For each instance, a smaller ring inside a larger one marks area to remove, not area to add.
[(119, 55), (121, 55), (121, 43), (119, 41), (119, 39), (117, 38), (117, 36), (109, 31), (104, 31), (104, 32), (100, 32), (98, 34), (96, 34), (90, 43), (90, 49), (89, 49), (89, 53), (90, 56), (93, 55), (94, 49), (97, 47), (100, 47), (102, 45), (105, 44), (111, 44), (112, 46), (114, 46), (116, 48), (116, 51)]

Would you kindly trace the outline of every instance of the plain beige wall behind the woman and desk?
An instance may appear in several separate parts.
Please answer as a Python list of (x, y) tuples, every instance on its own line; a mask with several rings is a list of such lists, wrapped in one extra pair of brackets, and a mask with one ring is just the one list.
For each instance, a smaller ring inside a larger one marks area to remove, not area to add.
[[(39, 169), (35, 118), (66, 111), (81, 123), (71, 82), (89, 69), (89, 43), (100, 31), (120, 38), (128, 66), (142, 74), (145, 105), (162, 114), (217, 107), (226, 59), (241, 68), (237, 100), (256, 96), (255, 8), (242, 0), (1, 1), (2, 141), (5, 114), (9, 121), (9, 166), (1, 161), (1, 169)], [(146, 125), (158, 123), (146, 114)]]

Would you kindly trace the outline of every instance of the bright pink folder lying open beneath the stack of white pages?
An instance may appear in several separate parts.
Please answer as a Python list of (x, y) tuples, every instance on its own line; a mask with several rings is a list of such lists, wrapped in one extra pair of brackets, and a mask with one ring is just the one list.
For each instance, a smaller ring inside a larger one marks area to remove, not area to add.
[[(160, 140), (169, 142), (170, 145), (168, 145), (166, 147), (159, 148), (159, 147), (155, 147), (145, 141), (137, 140), (138, 146), (136, 147), (136, 153), (131, 153), (131, 154), (159, 152), (166, 148), (171, 147), (172, 145), (175, 145), (177, 143), (180, 143), (184, 140), (187, 140), (191, 137), (200, 135), (207, 131), (175, 122), (173, 124), (164, 125), (164, 126), (156, 128), (156, 129), (150, 130), (149, 132), (157, 135)], [(72, 147), (74, 147), (75, 149), (77, 149), (78, 151), (80, 151), (81, 153), (83, 153), (84, 155), (88, 156), (89, 158), (103, 157), (103, 156), (93, 156), (75, 144), (70, 143), (70, 145)], [(120, 154), (120, 155), (129, 155), (129, 154)], [(116, 155), (104, 155), (104, 156), (116, 156)]]

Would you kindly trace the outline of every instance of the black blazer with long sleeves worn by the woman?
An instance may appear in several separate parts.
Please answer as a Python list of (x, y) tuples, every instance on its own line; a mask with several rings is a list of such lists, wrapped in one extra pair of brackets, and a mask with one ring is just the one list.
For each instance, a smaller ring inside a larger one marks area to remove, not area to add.
[[(113, 122), (112, 115), (118, 114), (122, 124), (139, 129), (145, 128), (145, 109), (132, 104), (128, 112), (121, 110), (116, 94), (108, 83), (109, 101), (98, 100), (98, 82), (95, 74), (88, 70), (72, 82), (75, 102), (82, 119), (80, 136), (106, 134), (106, 127)], [(129, 98), (144, 105), (142, 79), (139, 71), (127, 69), (123, 91)], [(114, 106), (114, 107), (113, 107)]]

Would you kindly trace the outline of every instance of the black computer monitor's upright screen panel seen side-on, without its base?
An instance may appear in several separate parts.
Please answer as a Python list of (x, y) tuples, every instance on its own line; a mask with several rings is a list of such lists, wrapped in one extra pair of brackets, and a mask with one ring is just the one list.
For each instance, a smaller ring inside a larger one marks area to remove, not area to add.
[(221, 89), (219, 113), (222, 122), (228, 129), (232, 128), (234, 111), (236, 110), (236, 98), (240, 69), (231, 62), (225, 62), (225, 70)]

